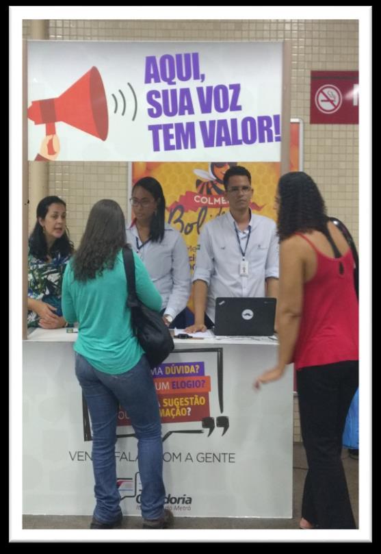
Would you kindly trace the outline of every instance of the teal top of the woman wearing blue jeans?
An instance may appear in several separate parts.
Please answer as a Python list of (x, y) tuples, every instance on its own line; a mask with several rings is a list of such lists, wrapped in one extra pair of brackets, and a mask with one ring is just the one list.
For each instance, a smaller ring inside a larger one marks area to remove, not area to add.
[[(137, 297), (159, 312), (161, 296), (135, 253)], [(77, 281), (70, 261), (62, 284), (62, 312), (67, 321), (79, 323), (74, 349), (94, 368), (116, 375), (133, 368), (144, 353), (131, 327), (126, 305), (127, 279), (122, 251), (114, 268), (88, 281)]]

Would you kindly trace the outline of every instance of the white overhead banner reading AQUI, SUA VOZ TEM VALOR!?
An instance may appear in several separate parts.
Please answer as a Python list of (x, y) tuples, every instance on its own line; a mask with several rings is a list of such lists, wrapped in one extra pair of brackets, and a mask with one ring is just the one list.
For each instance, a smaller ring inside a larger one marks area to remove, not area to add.
[(279, 162), (282, 61), (282, 42), (28, 41), (29, 160)]

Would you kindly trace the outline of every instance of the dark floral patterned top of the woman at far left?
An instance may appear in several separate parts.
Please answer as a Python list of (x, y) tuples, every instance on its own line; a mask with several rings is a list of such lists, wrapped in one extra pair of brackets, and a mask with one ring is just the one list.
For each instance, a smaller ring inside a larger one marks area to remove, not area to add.
[[(28, 297), (56, 307), (57, 311), (54, 313), (57, 316), (62, 316), (62, 279), (69, 260), (70, 255), (62, 257), (57, 253), (48, 262), (28, 253)], [(40, 316), (36, 312), (28, 310), (28, 327), (38, 327), (39, 320)]]

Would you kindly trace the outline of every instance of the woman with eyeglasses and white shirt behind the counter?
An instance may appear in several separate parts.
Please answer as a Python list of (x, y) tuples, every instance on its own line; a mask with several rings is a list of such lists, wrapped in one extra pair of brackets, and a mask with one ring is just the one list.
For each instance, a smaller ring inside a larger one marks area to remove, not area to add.
[(161, 294), (161, 313), (169, 327), (184, 329), (191, 275), (183, 237), (165, 221), (166, 199), (157, 179), (143, 177), (130, 199), (135, 217), (127, 242), (140, 257)]

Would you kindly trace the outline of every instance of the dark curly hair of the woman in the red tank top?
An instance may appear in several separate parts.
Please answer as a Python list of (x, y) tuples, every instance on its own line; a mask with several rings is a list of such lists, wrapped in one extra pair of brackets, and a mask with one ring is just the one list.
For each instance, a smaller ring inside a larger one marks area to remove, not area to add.
[(290, 171), (278, 181), (278, 236), (321, 231), (326, 234), (326, 205), (317, 185), (304, 171)]

